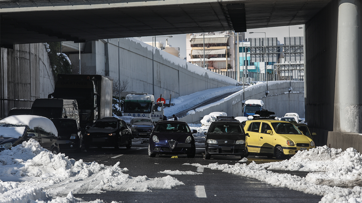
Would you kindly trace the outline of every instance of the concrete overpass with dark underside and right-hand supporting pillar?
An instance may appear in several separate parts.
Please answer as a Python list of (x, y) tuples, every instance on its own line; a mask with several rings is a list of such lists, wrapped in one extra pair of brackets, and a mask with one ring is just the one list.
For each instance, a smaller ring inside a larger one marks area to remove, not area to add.
[(0, 1), (0, 44), (305, 24), (308, 125), (334, 148), (362, 150), (360, 0)]

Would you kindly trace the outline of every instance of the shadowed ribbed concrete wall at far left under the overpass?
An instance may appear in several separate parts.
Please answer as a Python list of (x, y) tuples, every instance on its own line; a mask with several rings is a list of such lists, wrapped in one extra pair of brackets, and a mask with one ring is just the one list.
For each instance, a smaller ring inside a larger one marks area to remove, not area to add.
[(0, 48), (0, 118), (14, 107), (31, 107), (54, 91), (54, 77), (43, 43)]

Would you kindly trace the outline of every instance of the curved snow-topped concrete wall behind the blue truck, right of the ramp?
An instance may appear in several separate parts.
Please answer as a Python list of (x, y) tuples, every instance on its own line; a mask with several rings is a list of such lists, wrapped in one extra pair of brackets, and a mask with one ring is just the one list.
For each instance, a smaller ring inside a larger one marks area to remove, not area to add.
[[(289, 92), (289, 81), (268, 82), (268, 96), (265, 96), (266, 83), (245, 88), (245, 100), (261, 99), (264, 108), (275, 112), (275, 116), (283, 117), (285, 113), (298, 113), (304, 118), (304, 82), (291, 81), (292, 91)], [(186, 115), (179, 120), (188, 123), (199, 123), (203, 116), (211, 112), (226, 112), (228, 116), (243, 116), (243, 91), (236, 92), (218, 102), (195, 109), (194, 114)]]

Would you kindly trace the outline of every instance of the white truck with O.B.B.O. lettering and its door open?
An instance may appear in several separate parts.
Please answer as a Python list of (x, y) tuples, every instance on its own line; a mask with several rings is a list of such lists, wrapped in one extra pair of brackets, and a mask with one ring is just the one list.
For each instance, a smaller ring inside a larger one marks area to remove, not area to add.
[(153, 123), (163, 120), (163, 102), (155, 102), (155, 97), (147, 93), (131, 93), (123, 104), (123, 116), (147, 117)]

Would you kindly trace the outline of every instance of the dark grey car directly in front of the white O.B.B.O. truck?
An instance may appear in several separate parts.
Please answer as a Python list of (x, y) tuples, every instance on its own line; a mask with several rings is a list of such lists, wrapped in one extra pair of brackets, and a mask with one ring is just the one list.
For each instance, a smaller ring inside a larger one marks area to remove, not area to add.
[(151, 118), (135, 117), (130, 121), (133, 138), (149, 138), (153, 130)]

